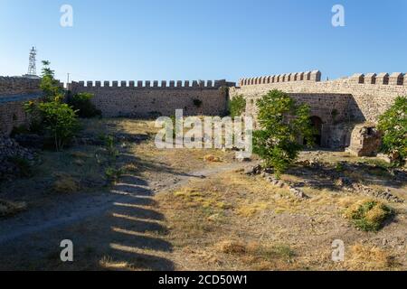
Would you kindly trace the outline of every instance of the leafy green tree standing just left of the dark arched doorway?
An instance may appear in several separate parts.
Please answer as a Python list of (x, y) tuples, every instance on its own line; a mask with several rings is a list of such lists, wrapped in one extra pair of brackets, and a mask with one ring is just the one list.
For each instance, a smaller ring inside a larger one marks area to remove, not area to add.
[(298, 106), (294, 99), (279, 90), (271, 90), (256, 105), (261, 129), (253, 132), (253, 152), (279, 176), (298, 158), (302, 149), (298, 135), (305, 137), (308, 146), (314, 144), (315, 128), (311, 124), (309, 107)]

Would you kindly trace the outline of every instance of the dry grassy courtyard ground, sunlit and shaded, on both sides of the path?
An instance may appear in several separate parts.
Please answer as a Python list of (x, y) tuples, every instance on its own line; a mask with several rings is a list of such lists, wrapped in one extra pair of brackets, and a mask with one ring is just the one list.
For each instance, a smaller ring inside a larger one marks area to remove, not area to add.
[[(100, 216), (33, 235), (29, 239), (35, 242), (28, 248), (36, 248), (33, 256), (24, 251), (24, 240), (4, 246), (0, 253), (7, 252), (9, 256), (0, 268), (407, 268), (405, 203), (375, 200), (336, 186), (311, 185), (302, 188), (310, 198), (298, 199), (287, 187), (279, 188), (260, 175), (249, 176), (242, 170), (229, 168), (234, 163), (234, 152), (156, 149), (153, 136), (157, 129), (153, 121), (91, 119), (84, 125), (82, 135), (86, 137), (103, 139), (106, 135), (115, 135), (118, 141), (109, 150), (104, 144), (77, 144), (62, 153), (43, 152), (42, 163), (33, 170), (32, 176), (2, 184), (0, 198), (5, 200), (0, 200), (0, 216), (24, 210), (25, 205), (28, 210), (35, 210), (63, 198), (111, 194), (126, 188), (137, 189), (140, 184), (144, 188), (141, 195), (113, 203), (112, 208)], [(138, 135), (149, 138), (131, 141)], [(300, 161), (308, 159), (308, 153), (301, 154)], [(379, 160), (321, 152), (317, 154), (317, 161), (376, 190), (391, 188), (394, 195), (405, 200), (407, 184), (393, 182), (393, 176), (383, 170)], [(342, 167), (344, 161), (371, 166), (352, 171)], [(107, 182), (107, 167), (112, 173), (120, 172), (116, 184)], [(220, 170), (222, 168), (226, 170)], [(202, 178), (188, 174), (202, 170), (214, 173)], [(293, 171), (295, 173), (281, 175), (281, 179), (284, 182), (329, 181), (324, 173), (305, 175), (299, 167)], [(178, 178), (189, 181), (175, 185)], [(171, 189), (167, 188), (168, 183), (173, 185)], [(368, 221), (380, 221), (377, 232), (364, 232), (355, 227), (352, 218), (345, 218), (352, 217), (352, 212), (366, 200), (377, 202), (378, 206), (370, 208), (372, 211), (366, 210), (363, 216)], [(383, 211), (379, 209), (387, 207), (394, 211), (394, 218), (383, 222)], [(66, 236), (76, 239), (76, 261), (71, 265), (60, 262), (60, 248), (53, 246)], [(335, 239), (345, 242), (343, 263), (331, 260), (331, 244)], [(20, 246), (18, 252), (15, 246)]]

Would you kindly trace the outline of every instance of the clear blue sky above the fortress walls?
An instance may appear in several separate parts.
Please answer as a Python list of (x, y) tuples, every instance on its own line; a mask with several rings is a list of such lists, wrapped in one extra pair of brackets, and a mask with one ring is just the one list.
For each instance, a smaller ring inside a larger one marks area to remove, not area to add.
[(63, 81), (407, 72), (406, 0), (0, 0), (0, 32), (2, 76), (26, 73), (33, 45)]

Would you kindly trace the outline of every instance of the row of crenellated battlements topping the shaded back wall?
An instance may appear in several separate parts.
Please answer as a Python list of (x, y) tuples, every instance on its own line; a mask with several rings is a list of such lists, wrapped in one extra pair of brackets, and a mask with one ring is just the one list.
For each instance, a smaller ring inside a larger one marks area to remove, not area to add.
[(130, 80), (130, 81), (72, 81), (69, 89), (75, 90), (80, 88), (122, 88), (122, 89), (219, 89), (221, 87), (234, 87), (234, 82), (221, 80)]

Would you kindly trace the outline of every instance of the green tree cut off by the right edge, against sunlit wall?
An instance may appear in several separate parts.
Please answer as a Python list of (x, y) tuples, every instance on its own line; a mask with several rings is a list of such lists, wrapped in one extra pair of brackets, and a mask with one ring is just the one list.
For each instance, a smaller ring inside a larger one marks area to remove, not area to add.
[(393, 167), (400, 167), (407, 158), (407, 97), (396, 98), (382, 116), (379, 130), (383, 133), (382, 152), (389, 155)]

